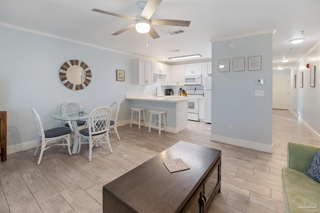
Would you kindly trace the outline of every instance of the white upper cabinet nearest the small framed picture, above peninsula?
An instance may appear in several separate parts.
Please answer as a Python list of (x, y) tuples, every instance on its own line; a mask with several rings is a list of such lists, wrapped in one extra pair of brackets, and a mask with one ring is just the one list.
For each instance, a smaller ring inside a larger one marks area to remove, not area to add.
[(152, 84), (152, 61), (142, 58), (133, 59), (133, 84), (151, 85)]

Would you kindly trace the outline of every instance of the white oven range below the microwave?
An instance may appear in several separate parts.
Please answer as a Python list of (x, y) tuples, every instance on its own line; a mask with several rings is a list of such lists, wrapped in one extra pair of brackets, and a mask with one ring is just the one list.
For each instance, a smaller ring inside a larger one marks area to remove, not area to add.
[(187, 90), (188, 120), (199, 121), (199, 98), (203, 98), (204, 90)]

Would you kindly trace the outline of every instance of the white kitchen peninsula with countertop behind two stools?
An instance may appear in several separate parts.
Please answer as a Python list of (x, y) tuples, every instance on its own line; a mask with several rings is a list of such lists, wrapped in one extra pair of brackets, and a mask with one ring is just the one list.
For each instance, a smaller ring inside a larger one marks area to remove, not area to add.
[(171, 133), (178, 133), (186, 128), (187, 124), (187, 98), (181, 97), (155, 97), (142, 95), (125, 95), (130, 100), (131, 107), (145, 108), (146, 124), (149, 125), (149, 110), (165, 110), (166, 129)]

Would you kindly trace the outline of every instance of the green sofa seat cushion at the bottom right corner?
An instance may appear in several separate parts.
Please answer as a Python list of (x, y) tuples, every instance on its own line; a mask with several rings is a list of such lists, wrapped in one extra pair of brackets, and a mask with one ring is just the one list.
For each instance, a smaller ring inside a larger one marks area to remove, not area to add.
[(320, 204), (320, 183), (304, 175), (303, 172), (290, 168), (282, 168), (281, 181), (286, 213), (304, 212), (303, 210), (319, 211), (317, 206)]

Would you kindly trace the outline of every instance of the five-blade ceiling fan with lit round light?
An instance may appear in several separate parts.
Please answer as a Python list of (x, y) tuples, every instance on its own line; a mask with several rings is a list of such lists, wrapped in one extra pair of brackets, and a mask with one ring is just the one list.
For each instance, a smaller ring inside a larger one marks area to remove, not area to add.
[(112, 35), (118, 35), (128, 29), (131, 29), (135, 26), (137, 32), (140, 33), (149, 33), (149, 35), (155, 39), (160, 37), (158, 33), (154, 30), (152, 25), (171, 25), (171, 26), (189, 26), (190, 21), (185, 20), (172, 20), (172, 19), (158, 19), (158, 18), (150, 18), (158, 5), (162, 0), (148, 0), (147, 2), (140, 1), (138, 2), (138, 8), (141, 10), (140, 14), (137, 14), (135, 18), (119, 15), (113, 12), (104, 11), (101, 9), (93, 8), (92, 11), (101, 12), (108, 15), (113, 15), (121, 18), (126, 18), (130, 20), (134, 20), (135, 23), (132, 23), (119, 31), (114, 32)]

